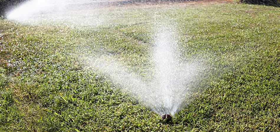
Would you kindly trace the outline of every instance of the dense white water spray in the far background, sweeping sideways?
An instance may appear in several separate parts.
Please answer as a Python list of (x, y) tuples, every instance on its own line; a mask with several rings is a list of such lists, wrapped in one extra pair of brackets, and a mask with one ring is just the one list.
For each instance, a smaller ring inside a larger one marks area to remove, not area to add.
[[(110, 18), (91, 0), (29, 0), (11, 9), (7, 19), (27, 24), (65, 24), (72, 27), (99, 26)], [(103, 14), (102, 14), (103, 13)]]

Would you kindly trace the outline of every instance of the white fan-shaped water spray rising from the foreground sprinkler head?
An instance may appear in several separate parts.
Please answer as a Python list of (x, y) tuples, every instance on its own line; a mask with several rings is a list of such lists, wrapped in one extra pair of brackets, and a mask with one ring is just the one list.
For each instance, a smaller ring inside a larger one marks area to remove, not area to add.
[(158, 114), (175, 114), (189, 92), (187, 84), (195, 75), (196, 65), (180, 59), (178, 35), (170, 26), (158, 26), (155, 32), (153, 60), (155, 75), (149, 82), (128, 70), (113, 57), (101, 55), (88, 58), (90, 66), (108, 74), (112, 81), (139, 99)]

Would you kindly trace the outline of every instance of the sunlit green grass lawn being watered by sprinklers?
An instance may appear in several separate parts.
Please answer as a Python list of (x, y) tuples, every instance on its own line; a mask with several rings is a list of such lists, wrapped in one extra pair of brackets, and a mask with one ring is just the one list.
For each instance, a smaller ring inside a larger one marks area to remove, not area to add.
[[(0, 20), (0, 131), (280, 131), (279, 8), (135, 8), (98, 27)], [(171, 124), (82, 58), (111, 54), (149, 78), (162, 17), (177, 23), (182, 58), (205, 67)]]

